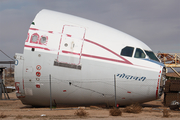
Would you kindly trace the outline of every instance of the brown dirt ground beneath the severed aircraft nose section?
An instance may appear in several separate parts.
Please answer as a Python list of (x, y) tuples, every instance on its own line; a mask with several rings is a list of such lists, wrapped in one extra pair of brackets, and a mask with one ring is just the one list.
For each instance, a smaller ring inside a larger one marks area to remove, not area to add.
[[(151, 120), (151, 119), (180, 119), (180, 111), (172, 111), (168, 107), (164, 107), (162, 104), (163, 99), (151, 101), (142, 104), (142, 112), (140, 113), (125, 113), (122, 112), (121, 116), (111, 116), (109, 114), (110, 109), (101, 108), (97, 106), (86, 107), (85, 111), (88, 116), (79, 117), (74, 113), (77, 111), (77, 107), (73, 108), (33, 108), (32, 106), (23, 105), (20, 100), (16, 98), (15, 92), (9, 93), (11, 100), (0, 100), (0, 119), (4, 120), (58, 120), (58, 119), (88, 119), (88, 120), (109, 120), (109, 119), (122, 119), (122, 120)], [(119, 108), (121, 111), (125, 107)], [(163, 110), (167, 109), (169, 117), (163, 117)]]

